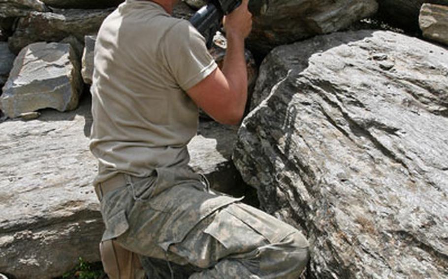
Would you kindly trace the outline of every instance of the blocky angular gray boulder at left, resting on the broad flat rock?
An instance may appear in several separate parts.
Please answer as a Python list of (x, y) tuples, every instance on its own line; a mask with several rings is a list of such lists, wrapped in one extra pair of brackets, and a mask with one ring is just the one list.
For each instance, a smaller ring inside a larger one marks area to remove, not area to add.
[(23, 49), (3, 87), (3, 112), (12, 118), (45, 108), (75, 109), (83, 86), (78, 59), (70, 44), (34, 43)]

